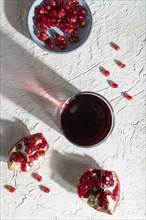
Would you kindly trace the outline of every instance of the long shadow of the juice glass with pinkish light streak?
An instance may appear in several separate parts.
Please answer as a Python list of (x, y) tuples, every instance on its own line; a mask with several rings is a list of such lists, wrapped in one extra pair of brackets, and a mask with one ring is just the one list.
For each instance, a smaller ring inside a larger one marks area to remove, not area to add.
[(5, 34), (1, 54), (2, 94), (62, 133), (59, 107), (79, 90)]

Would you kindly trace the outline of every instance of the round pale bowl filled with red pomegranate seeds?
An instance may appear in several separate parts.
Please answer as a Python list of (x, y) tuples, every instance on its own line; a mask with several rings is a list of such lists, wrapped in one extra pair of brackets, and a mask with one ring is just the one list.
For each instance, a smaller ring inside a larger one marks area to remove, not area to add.
[(84, 0), (35, 0), (27, 17), (33, 41), (48, 52), (70, 52), (89, 37), (92, 14)]

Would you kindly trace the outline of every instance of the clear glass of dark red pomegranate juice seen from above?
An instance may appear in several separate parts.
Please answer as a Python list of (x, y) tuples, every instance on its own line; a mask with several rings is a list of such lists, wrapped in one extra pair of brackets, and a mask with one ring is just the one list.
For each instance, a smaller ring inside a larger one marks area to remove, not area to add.
[(65, 137), (78, 146), (103, 142), (115, 123), (110, 103), (94, 92), (80, 92), (67, 99), (60, 110), (60, 126)]

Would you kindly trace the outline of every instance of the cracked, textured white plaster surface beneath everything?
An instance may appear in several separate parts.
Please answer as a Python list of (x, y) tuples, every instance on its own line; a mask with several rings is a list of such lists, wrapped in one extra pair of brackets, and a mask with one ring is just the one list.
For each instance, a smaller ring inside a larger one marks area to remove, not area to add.
[[(1, 219), (145, 219), (145, 72), (144, 1), (88, 0), (94, 25), (80, 49), (65, 55), (48, 54), (26, 34), (30, 0), (1, 0)], [(111, 48), (117, 42), (120, 51)], [(114, 59), (127, 66), (120, 69)], [(100, 71), (111, 71), (118, 89), (108, 86)], [(112, 104), (116, 125), (108, 140), (93, 148), (69, 143), (56, 126), (54, 106), (77, 91), (94, 91)], [(122, 91), (133, 101), (126, 101)], [(7, 169), (9, 147), (28, 133), (42, 132), (50, 144), (43, 161), (34, 167), (43, 176), (39, 189), (30, 173)], [(96, 212), (77, 196), (78, 177), (100, 165), (116, 171), (121, 198), (113, 216)], [(16, 186), (9, 193), (5, 184)]]

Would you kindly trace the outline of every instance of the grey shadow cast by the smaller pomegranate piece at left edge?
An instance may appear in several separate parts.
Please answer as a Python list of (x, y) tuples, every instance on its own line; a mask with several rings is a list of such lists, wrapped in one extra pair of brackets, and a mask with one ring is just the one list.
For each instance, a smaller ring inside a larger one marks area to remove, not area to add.
[(13, 121), (0, 120), (0, 124), (0, 160), (5, 161), (11, 146), (30, 132), (27, 126), (17, 118)]

